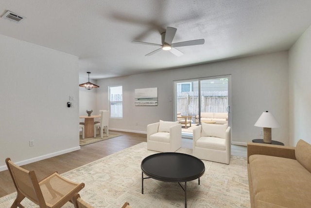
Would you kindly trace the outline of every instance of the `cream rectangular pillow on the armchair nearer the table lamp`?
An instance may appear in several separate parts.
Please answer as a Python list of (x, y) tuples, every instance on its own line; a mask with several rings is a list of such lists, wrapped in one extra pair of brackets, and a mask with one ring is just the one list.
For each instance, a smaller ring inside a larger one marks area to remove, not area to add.
[(228, 124), (207, 124), (202, 123), (201, 136), (225, 138), (225, 131)]

